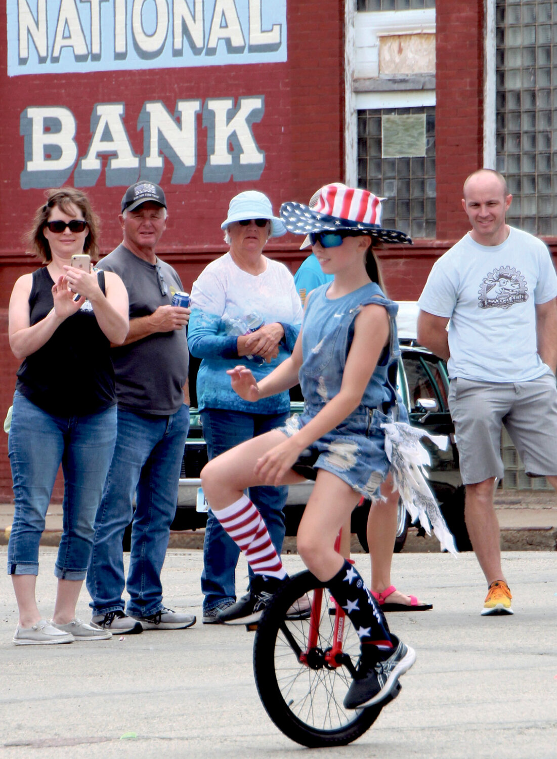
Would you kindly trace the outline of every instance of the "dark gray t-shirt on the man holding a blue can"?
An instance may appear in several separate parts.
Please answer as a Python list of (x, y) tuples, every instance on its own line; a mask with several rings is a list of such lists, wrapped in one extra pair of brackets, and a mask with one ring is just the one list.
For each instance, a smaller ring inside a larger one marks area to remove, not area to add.
[[(115, 272), (124, 282), (130, 300), (130, 319), (146, 317), (159, 306), (170, 305), (172, 295), (183, 289), (178, 274), (157, 259), (147, 263), (118, 245), (98, 263), (99, 269)], [(157, 266), (168, 294), (162, 295)], [(175, 414), (184, 403), (187, 381), (186, 330), (155, 332), (143, 339), (112, 349), (118, 405), (137, 414)]]

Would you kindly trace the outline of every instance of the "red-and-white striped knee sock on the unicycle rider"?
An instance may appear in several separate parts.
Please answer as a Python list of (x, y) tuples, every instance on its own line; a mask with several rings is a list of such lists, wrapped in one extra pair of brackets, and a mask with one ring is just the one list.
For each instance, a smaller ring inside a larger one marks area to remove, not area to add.
[(284, 580), (288, 577), (266, 524), (247, 496), (213, 514), (247, 559), (256, 575)]

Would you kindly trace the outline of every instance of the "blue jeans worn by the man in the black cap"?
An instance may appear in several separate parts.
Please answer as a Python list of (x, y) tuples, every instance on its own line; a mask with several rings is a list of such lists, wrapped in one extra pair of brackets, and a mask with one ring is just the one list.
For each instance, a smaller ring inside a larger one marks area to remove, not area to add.
[[(126, 587), (130, 594), (127, 614), (150, 616), (163, 608), (160, 575), (178, 502), (178, 479), (189, 427), (190, 409), (186, 405), (162, 417), (118, 408), (118, 438), (96, 512), (87, 572), (93, 614), (123, 611)], [(126, 582), (122, 538), (132, 517)]]

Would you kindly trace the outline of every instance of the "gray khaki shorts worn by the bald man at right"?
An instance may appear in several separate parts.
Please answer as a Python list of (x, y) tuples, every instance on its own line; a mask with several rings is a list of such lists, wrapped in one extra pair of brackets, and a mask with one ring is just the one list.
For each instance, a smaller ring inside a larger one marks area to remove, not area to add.
[(527, 474), (557, 475), (557, 386), (551, 372), (521, 383), (451, 380), (448, 408), (465, 485), (503, 476), (505, 425)]

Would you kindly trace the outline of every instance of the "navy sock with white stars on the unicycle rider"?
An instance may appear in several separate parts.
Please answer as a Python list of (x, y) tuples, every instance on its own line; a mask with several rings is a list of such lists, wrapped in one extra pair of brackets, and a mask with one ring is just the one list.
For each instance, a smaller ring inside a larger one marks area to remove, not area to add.
[(366, 587), (360, 573), (350, 562), (345, 561), (338, 575), (331, 578), (326, 586), (335, 601), (348, 614), (360, 638), (360, 643), (371, 643), (379, 648), (392, 647), (385, 615)]

